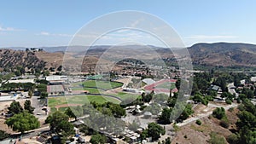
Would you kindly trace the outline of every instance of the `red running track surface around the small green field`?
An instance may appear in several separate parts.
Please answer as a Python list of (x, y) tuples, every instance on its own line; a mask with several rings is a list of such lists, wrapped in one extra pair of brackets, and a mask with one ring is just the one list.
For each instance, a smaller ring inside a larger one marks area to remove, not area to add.
[[(160, 88), (155, 88), (157, 85), (159, 84), (163, 84), (163, 83), (166, 83), (166, 82), (169, 82), (169, 83), (176, 83), (176, 79), (162, 79), (154, 84), (150, 84), (150, 85), (147, 85), (144, 89), (148, 90), (148, 91), (153, 91), (154, 92), (163, 92), (163, 93), (169, 93), (170, 92), (170, 89), (160, 89)], [(177, 88), (175, 89), (172, 89), (172, 92), (173, 93), (176, 93), (178, 90)]]

